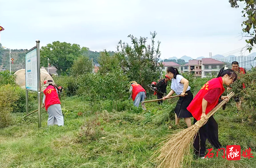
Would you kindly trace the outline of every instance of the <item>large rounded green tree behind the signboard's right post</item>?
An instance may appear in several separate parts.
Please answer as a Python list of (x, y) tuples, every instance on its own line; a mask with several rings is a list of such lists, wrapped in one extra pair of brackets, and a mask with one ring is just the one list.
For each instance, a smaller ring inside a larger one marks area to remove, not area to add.
[(49, 63), (58, 70), (58, 73), (66, 74), (81, 52), (78, 44), (54, 41), (41, 48), (41, 66), (47, 67), (47, 58), (44, 57), (47, 56)]

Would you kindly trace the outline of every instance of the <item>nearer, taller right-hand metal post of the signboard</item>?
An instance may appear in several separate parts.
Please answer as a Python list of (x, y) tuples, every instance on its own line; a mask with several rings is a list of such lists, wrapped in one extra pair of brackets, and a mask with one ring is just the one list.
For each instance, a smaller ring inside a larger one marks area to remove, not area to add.
[(37, 50), (37, 97), (38, 97), (38, 127), (41, 127), (41, 80), (40, 80), (40, 48), (39, 40), (36, 40), (36, 50)]

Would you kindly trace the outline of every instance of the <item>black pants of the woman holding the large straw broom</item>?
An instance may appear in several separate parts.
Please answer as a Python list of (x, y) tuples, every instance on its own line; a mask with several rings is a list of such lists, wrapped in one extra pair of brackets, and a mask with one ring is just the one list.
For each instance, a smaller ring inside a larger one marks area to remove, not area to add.
[[(197, 122), (194, 119), (194, 124)], [(195, 141), (194, 141), (194, 148), (195, 154), (199, 157), (205, 156), (205, 142), (206, 139), (210, 141), (210, 143), (214, 146), (214, 148), (219, 149), (221, 148), (221, 144), (218, 138), (218, 124), (211, 116), (207, 123), (199, 129), (199, 134), (197, 133)], [(207, 151), (208, 152), (208, 151)]]

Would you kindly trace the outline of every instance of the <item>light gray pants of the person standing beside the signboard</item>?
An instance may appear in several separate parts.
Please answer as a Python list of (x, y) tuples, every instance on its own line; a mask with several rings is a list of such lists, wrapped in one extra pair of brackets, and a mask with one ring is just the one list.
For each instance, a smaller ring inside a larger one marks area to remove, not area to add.
[(50, 125), (64, 125), (64, 118), (60, 104), (53, 104), (48, 108), (48, 126)]

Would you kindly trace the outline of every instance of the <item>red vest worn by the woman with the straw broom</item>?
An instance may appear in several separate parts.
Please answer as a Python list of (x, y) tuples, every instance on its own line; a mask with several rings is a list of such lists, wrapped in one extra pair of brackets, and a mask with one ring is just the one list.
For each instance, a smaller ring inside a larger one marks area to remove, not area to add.
[[(222, 93), (225, 91), (222, 83), (222, 77), (219, 78), (213, 78), (210, 81), (206, 82), (203, 87), (200, 89), (200, 91), (196, 94), (194, 99), (189, 104), (187, 110), (193, 115), (193, 117), (198, 121), (201, 118), (202, 115), (202, 100), (203, 96), (210, 90), (214, 88), (221, 88), (221, 92), (219, 97), (222, 95)], [(218, 104), (218, 100), (212, 104), (208, 103), (205, 114), (209, 113), (215, 106)]]

